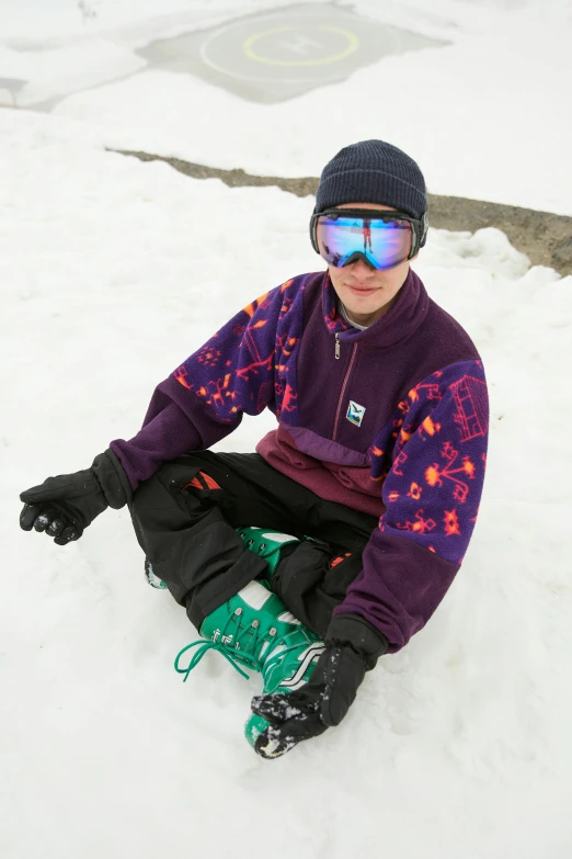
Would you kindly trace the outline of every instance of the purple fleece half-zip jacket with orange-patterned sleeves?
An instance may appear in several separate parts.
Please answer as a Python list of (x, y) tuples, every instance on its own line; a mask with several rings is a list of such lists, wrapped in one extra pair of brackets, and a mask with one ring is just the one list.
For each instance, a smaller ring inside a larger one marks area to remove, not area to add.
[(270, 465), (379, 517), (334, 613), (365, 618), (399, 651), (445, 596), (474, 528), (489, 425), (476, 347), (411, 270), (365, 331), (338, 313), (328, 272), (301, 274), (187, 358), (156, 388), (140, 432), (111, 448), (136, 489), (266, 407), (278, 426), (256, 451)]

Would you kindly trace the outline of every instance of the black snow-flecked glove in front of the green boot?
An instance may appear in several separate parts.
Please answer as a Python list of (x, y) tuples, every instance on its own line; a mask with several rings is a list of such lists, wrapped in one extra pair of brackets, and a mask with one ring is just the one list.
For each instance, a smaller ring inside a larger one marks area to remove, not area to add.
[(295, 692), (252, 699), (252, 712), (270, 722), (255, 750), (275, 758), (302, 739), (339, 725), (354, 701), (366, 670), (387, 653), (388, 640), (357, 614), (332, 618), (322, 653), (308, 682)]

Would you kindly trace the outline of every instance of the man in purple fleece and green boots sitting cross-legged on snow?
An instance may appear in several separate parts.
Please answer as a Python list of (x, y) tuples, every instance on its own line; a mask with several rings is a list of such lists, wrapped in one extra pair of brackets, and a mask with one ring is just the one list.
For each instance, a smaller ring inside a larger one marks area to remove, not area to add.
[[(262, 671), (247, 737), (265, 758), (341, 722), (365, 671), (431, 618), (474, 527), (487, 384), (410, 269), (426, 208), (400, 149), (342, 149), (310, 224), (328, 270), (230, 319), (156, 388), (130, 441), (21, 495), (22, 528), (58, 544), (129, 505), (149, 580), (203, 636), (176, 669), (215, 648)], [(208, 450), (265, 408), (278, 426), (256, 453)]]

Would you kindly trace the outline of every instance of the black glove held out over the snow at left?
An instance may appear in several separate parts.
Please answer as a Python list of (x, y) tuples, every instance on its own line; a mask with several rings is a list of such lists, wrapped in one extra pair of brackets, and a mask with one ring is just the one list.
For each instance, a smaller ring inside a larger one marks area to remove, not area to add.
[(20, 527), (24, 531), (45, 531), (62, 546), (79, 540), (83, 529), (107, 507), (118, 509), (130, 501), (131, 495), (119, 460), (106, 450), (95, 456), (91, 468), (48, 477), (22, 493)]

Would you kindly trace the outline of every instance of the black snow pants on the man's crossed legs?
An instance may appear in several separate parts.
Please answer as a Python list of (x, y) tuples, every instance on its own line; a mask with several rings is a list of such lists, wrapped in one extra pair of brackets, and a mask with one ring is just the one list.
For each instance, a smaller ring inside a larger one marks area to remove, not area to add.
[(237, 528), (312, 538), (284, 547), (272, 589), (322, 637), (377, 527), (376, 517), (322, 500), (258, 453), (198, 451), (172, 460), (140, 484), (130, 512), (155, 574), (197, 630), (266, 569)]

